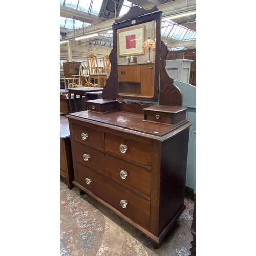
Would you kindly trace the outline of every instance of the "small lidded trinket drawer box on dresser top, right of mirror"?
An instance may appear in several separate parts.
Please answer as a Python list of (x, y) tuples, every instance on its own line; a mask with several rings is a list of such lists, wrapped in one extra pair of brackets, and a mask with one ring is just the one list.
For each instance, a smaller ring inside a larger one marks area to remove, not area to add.
[(144, 121), (178, 125), (186, 120), (186, 107), (155, 105), (144, 109)]

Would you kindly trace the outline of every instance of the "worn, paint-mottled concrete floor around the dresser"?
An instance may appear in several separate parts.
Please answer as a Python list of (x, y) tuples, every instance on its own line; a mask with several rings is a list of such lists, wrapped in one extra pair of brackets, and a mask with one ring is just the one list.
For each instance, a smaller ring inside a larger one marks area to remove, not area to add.
[(155, 250), (142, 232), (90, 195), (80, 195), (76, 186), (69, 190), (60, 177), (60, 255), (190, 255), (194, 202), (185, 198), (185, 205), (185, 211)]

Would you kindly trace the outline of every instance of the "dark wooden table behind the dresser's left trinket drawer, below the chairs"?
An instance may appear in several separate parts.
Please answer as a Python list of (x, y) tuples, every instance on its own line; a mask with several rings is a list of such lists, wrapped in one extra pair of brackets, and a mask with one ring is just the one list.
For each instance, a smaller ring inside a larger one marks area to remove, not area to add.
[[(82, 111), (82, 96), (84, 96), (85, 93), (87, 92), (99, 92), (102, 91), (103, 88), (99, 88), (99, 87), (74, 87), (74, 88), (68, 88), (69, 91), (69, 106), (70, 106), (70, 111), (72, 112), (78, 112), (78, 111)], [(72, 104), (71, 104), (71, 94), (74, 94), (74, 103), (75, 103), (75, 111), (72, 110)], [(78, 109), (77, 106), (77, 98), (76, 95), (79, 94), (79, 100), (80, 100), (80, 109)]]

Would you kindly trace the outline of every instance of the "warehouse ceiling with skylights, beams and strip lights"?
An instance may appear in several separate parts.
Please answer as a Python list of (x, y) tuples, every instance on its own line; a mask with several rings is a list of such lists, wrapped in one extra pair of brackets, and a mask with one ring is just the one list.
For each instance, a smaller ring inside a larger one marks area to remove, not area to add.
[[(134, 5), (163, 12), (162, 40), (170, 50), (196, 48), (196, 0), (60, 0), (60, 41), (97, 32), (79, 43), (112, 47), (112, 34), (106, 32)], [(187, 15), (177, 17), (181, 14)]]

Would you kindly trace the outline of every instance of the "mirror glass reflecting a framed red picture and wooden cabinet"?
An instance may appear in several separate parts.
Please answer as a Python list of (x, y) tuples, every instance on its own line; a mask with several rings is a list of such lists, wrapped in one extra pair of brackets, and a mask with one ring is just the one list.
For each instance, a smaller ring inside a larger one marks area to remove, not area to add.
[(117, 30), (118, 95), (154, 96), (156, 22)]

